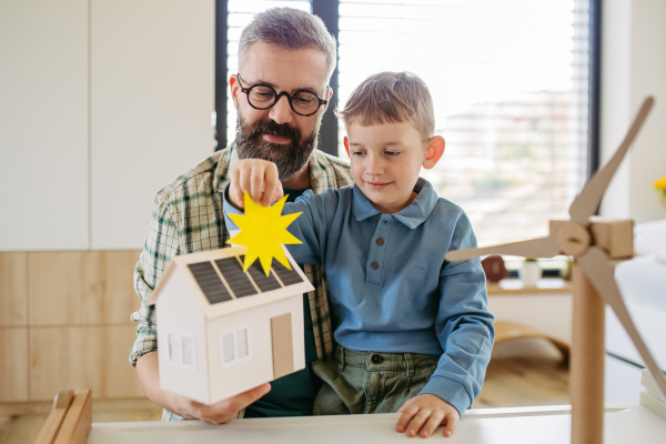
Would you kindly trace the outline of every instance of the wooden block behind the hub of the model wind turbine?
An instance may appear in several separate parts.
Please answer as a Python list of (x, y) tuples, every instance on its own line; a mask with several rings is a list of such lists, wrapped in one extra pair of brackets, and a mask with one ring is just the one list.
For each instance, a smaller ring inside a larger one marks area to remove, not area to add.
[[(548, 231), (556, 233), (568, 220), (551, 220)], [(589, 218), (592, 245), (606, 250), (610, 259), (630, 258), (634, 254), (634, 221), (630, 219)]]

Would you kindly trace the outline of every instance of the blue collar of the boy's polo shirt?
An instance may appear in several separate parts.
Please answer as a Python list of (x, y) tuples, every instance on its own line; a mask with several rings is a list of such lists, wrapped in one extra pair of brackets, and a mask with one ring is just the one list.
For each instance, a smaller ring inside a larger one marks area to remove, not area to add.
[[(416, 199), (400, 213), (391, 214), (395, 220), (410, 229), (421, 225), (437, 204), (437, 193), (433, 189), (433, 185), (425, 179), (418, 178), (414, 185), (414, 191), (418, 193)], [(356, 221), (364, 221), (367, 218), (381, 214), (365, 194), (363, 194), (361, 189), (359, 189), (359, 185), (354, 185), (353, 196), (352, 212)]]

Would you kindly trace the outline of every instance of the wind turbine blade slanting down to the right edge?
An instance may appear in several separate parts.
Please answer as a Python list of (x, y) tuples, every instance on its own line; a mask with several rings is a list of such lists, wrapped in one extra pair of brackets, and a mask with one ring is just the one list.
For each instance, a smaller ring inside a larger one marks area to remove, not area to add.
[(666, 377), (664, 376), (664, 372), (662, 372), (653, 359), (647, 345), (643, 342), (643, 337), (640, 337), (638, 330), (636, 330), (634, 321), (632, 321), (632, 316), (627, 311), (622, 294), (619, 293), (619, 289), (615, 283), (615, 275), (613, 268), (608, 263), (608, 255), (601, 248), (592, 246), (587, 253), (576, 258), (576, 260), (581, 266), (583, 266), (583, 270), (585, 270), (589, 282), (592, 282), (597, 293), (608, 303), (608, 305), (610, 305), (619, 319), (619, 322), (622, 322), (622, 325), (632, 337), (632, 341), (634, 341), (634, 345), (638, 349), (640, 357), (645, 361), (649, 373), (657, 382), (664, 396), (666, 396)]

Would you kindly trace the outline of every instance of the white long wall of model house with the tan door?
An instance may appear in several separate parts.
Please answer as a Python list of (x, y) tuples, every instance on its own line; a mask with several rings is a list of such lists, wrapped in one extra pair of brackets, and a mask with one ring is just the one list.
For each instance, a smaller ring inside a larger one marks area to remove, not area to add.
[[(229, 396), (273, 381), (271, 317), (290, 312), (292, 313), (294, 370), (299, 371), (305, 367), (302, 294), (246, 312), (234, 313), (209, 321), (209, 369), (212, 402), (225, 400)], [(220, 332), (233, 330), (241, 325), (250, 326), (250, 357), (223, 367), (220, 354)]]

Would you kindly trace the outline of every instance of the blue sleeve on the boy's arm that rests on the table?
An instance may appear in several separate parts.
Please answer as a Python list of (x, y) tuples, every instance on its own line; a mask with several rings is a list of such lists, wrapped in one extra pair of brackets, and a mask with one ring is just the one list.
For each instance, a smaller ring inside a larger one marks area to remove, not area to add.
[[(450, 250), (472, 246), (476, 246), (476, 238), (466, 214), (461, 213)], [(435, 333), (444, 354), (420, 394), (443, 398), (462, 416), (481, 392), (495, 339), (481, 260), (444, 262), (440, 291)]]

